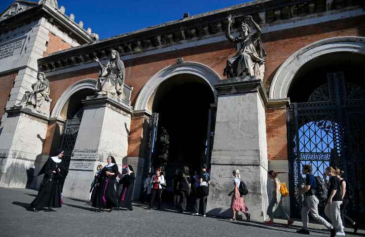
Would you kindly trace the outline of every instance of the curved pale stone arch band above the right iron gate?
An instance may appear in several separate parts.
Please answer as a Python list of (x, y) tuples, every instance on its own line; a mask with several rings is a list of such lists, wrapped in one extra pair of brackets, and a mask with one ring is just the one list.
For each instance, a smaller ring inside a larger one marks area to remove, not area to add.
[(335, 37), (320, 40), (299, 49), (278, 69), (271, 82), (269, 99), (287, 98), (292, 80), (299, 69), (310, 60), (333, 52), (365, 54), (365, 38)]

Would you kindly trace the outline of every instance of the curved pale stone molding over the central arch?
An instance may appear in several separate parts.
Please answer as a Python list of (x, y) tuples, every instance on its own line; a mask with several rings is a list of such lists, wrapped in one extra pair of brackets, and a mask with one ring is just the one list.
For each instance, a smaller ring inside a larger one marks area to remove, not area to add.
[(220, 82), (221, 79), (219, 75), (213, 69), (204, 64), (196, 62), (183, 62), (170, 65), (153, 75), (140, 91), (136, 100), (135, 110), (150, 111), (150, 109), (147, 108), (148, 102), (151, 96), (157, 90), (158, 86), (166, 79), (179, 74), (193, 74), (201, 79), (204, 79), (211, 87), (214, 95), (217, 96), (217, 91), (214, 88), (214, 84)]

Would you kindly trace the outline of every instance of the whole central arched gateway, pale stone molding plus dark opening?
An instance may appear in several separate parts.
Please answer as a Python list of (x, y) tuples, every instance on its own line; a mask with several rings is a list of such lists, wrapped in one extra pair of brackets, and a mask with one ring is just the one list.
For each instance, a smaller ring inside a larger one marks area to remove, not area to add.
[(219, 81), (206, 65), (176, 63), (151, 77), (139, 93), (135, 110), (152, 114), (145, 169), (162, 166), (168, 186), (183, 165), (193, 174), (210, 163), (217, 101), (214, 84)]

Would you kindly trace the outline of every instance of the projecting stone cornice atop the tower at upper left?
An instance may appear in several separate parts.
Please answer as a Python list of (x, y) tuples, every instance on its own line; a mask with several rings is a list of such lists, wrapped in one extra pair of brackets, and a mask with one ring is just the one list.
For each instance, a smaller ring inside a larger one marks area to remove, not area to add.
[(52, 24), (59, 27), (63, 32), (72, 36), (72, 38), (80, 44), (93, 41), (93, 36), (91, 34), (80, 29), (75, 22), (66, 20), (62, 13), (49, 8), (44, 4), (34, 6), (26, 11), (16, 14), (15, 16), (0, 21), (0, 32), (23, 25), (25, 22), (28, 22), (31, 19), (36, 19), (37, 17), (45, 17), (52, 22)]

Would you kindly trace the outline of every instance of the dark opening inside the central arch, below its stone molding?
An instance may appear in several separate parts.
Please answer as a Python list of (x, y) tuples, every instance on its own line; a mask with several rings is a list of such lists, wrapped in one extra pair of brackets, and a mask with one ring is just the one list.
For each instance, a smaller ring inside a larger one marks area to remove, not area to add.
[(158, 125), (152, 166), (164, 168), (168, 187), (176, 169), (188, 166), (193, 175), (207, 162), (209, 110), (214, 102), (210, 85), (193, 74), (166, 79), (156, 90), (152, 112), (158, 113)]

